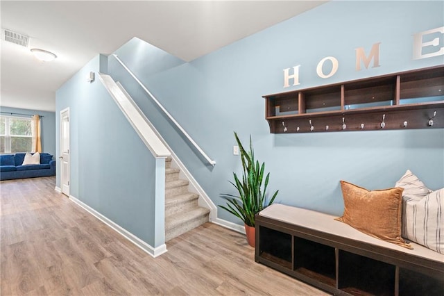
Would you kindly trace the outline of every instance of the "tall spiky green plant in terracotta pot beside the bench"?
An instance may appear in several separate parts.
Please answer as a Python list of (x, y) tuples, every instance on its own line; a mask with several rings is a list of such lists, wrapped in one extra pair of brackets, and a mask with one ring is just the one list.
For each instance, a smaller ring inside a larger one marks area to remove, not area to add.
[(274, 193), (267, 203), (265, 193), (270, 173), (266, 174), (264, 179), (265, 163), (259, 165), (259, 161), (255, 160), (251, 135), (249, 151), (244, 149), (236, 132), (234, 132), (234, 137), (237, 145), (239, 145), (243, 172), (241, 179), (233, 172), (234, 182), (230, 181), (230, 183), (237, 189), (239, 196), (222, 194), (221, 196), (227, 199), (227, 204), (220, 207), (244, 222), (248, 244), (255, 247), (255, 215), (273, 204), (279, 190)]

